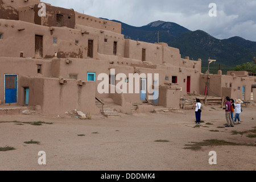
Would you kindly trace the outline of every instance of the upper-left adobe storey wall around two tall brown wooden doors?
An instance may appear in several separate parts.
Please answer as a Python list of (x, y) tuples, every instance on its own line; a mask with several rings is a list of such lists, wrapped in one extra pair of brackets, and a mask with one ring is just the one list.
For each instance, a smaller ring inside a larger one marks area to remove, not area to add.
[[(0, 40), (2, 57), (19, 57), (20, 51), (24, 52), (24, 57), (35, 57), (35, 35), (42, 35), (45, 59), (53, 58), (55, 52), (59, 58), (87, 58), (89, 39), (94, 40), (93, 58), (97, 59), (98, 38), (93, 33), (81, 34), (80, 30), (60, 27), (54, 27), (51, 31), (49, 27), (5, 19), (0, 19), (0, 24), (3, 33), (3, 39)], [(53, 44), (53, 38), (57, 38), (57, 44)], [(76, 43), (76, 40), (79, 40), (79, 43)]]

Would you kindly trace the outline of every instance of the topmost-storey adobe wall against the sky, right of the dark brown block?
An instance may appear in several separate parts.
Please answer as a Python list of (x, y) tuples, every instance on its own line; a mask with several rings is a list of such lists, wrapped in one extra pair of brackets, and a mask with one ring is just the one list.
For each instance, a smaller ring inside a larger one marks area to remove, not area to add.
[(112, 22), (110, 20), (105, 20), (101, 18), (96, 18), (93, 16), (81, 14), (75, 12), (76, 15), (76, 24), (81, 24), (87, 27), (93, 27), (100, 30), (112, 31), (117, 34), (121, 34), (121, 23)]

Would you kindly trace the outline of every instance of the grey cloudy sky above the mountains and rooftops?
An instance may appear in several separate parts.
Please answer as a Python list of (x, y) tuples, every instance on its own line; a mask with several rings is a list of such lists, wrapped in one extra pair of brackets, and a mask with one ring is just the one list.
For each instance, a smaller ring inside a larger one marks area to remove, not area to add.
[[(52, 6), (141, 27), (156, 20), (203, 30), (218, 39), (241, 36), (256, 42), (255, 0), (42, 0)], [(210, 3), (216, 4), (216, 15)]]

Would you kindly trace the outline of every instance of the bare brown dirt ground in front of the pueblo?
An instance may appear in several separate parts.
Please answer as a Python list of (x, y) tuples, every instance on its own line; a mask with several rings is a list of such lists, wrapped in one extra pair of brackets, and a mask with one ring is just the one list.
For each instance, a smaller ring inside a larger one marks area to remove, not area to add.
[[(246, 134), (232, 135), (234, 130), (248, 131), (256, 126), (255, 109), (255, 106), (244, 108), (242, 124), (230, 128), (223, 128), (225, 112), (220, 106), (204, 107), (202, 120), (205, 123), (201, 127), (195, 127), (193, 110), (122, 114), (118, 118), (93, 115), (91, 120), (65, 114), (60, 117), (0, 115), (0, 147), (15, 148), (0, 151), (0, 170), (255, 171), (256, 139), (248, 138)], [(53, 124), (33, 126), (5, 121)], [(80, 134), (84, 136), (78, 136)], [(31, 139), (40, 144), (24, 143)], [(186, 144), (207, 139), (246, 143), (248, 146), (204, 146), (198, 151), (184, 149)], [(46, 165), (38, 164), (39, 151), (46, 152)], [(216, 151), (217, 165), (209, 164), (210, 151)]]

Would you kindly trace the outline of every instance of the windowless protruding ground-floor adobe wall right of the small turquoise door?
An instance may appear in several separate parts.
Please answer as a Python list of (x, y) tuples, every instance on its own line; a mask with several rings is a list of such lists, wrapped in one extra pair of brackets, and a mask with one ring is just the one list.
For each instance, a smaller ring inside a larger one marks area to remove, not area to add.
[(44, 78), (43, 114), (64, 114), (74, 109), (84, 113), (100, 114), (95, 104), (95, 82), (77, 85), (76, 80), (67, 80), (67, 84), (59, 84), (57, 78)]

